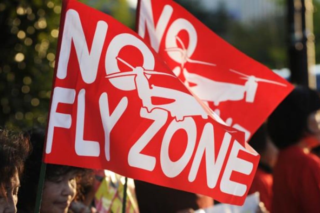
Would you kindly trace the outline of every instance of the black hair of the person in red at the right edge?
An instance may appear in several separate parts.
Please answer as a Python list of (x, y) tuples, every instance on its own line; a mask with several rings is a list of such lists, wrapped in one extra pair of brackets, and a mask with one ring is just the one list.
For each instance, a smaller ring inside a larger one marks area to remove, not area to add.
[(320, 109), (319, 94), (307, 87), (296, 87), (268, 118), (268, 133), (282, 149), (298, 143), (307, 133), (308, 116)]

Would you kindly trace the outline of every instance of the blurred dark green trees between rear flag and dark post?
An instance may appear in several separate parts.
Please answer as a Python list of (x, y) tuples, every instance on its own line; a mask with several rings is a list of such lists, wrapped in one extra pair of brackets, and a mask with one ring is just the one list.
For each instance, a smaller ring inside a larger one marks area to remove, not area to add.
[[(213, 32), (248, 56), (271, 69), (287, 67), (285, 12), (243, 23), (228, 13), (223, 1), (220, 1), (213, 11), (198, 4), (197, 0), (175, 1), (187, 8)], [(285, 10), (285, 0), (271, 1), (274, 1), (281, 10)]]

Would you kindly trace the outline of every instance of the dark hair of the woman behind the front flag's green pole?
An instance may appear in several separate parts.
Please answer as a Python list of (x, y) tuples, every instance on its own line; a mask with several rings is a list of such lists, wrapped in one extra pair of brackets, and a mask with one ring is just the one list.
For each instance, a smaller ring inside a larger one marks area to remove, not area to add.
[[(33, 129), (28, 132), (30, 135), (30, 141), (33, 146), (33, 151), (30, 157), (25, 163), (24, 178), (21, 182), (21, 187), (19, 189), (19, 202), (17, 208), (21, 212), (33, 212), (35, 209), (37, 187), (39, 183), (40, 167), (43, 156), (45, 133), (42, 129)], [(70, 171), (74, 171), (77, 174), (77, 182), (86, 172), (87, 169), (64, 166), (56, 164), (47, 164), (45, 180), (55, 181), (61, 175), (65, 175)], [(81, 186), (77, 184), (77, 195), (76, 199), (81, 198)]]

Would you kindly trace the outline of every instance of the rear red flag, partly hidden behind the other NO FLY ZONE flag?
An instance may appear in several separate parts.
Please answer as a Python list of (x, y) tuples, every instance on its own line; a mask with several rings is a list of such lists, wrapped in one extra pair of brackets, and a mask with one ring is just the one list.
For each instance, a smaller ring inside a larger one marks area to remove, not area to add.
[(139, 35), (246, 140), (293, 88), (172, 0), (139, 0), (137, 20)]

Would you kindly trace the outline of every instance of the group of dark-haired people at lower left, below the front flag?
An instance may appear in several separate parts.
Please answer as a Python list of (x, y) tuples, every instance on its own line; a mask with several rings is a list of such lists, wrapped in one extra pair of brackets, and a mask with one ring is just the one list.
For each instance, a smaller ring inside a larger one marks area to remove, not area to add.
[[(38, 129), (25, 134), (0, 130), (0, 212), (34, 212), (44, 135)], [(90, 185), (91, 173), (88, 169), (46, 164), (40, 212), (94, 212), (78, 204), (84, 201), (84, 187)]]

